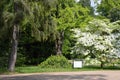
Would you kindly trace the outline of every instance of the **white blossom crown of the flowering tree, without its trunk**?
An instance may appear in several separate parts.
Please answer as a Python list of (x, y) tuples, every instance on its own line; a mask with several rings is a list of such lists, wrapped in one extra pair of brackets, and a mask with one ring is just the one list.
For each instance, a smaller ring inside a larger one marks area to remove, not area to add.
[[(73, 30), (75, 33), (74, 37), (77, 38), (74, 50), (77, 50), (77, 53), (83, 53), (86, 55), (90, 53), (90, 49), (95, 49), (97, 51), (101, 51), (101, 53), (104, 51), (103, 54), (109, 53), (110, 56), (116, 55), (117, 57), (120, 57), (120, 33), (112, 33), (113, 29), (115, 29), (110, 28), (112, 24), (106, 24), (103, 21), (94, 21), (90, 24), (92, 24), (92, 26), (97, 25), (98, 28), (96, 31), (92, 32), (93, 29), (90, 29), (92, 28), (91, 26), (90, 28), (88, 26), (86, 31), (82, 31), (80, 29)], [(108, 34), (102, 34), (102, 32)], [(88, 47), (91, 48), (88, 49)]]

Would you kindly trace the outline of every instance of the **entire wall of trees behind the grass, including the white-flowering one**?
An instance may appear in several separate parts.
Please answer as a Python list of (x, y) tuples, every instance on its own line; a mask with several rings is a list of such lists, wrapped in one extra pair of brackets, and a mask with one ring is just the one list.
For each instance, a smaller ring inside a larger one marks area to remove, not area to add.
[(0, 68), (45, 67), (53, 55), (119, 63), (120, 0), (0, 1)]

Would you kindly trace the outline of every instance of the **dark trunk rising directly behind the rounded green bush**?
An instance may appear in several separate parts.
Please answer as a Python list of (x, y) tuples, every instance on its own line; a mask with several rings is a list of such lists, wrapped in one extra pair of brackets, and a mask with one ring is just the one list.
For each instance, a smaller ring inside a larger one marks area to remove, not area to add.
[(55, 42), (56, 54), (62, 55), (62, 44), (63, 44), (64, 32), (59, 32), (58, 38)]

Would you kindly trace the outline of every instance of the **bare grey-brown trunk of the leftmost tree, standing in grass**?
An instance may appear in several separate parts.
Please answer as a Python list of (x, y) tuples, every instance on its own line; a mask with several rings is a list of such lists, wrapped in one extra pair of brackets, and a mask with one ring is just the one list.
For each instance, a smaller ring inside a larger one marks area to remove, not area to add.
[(13, 72), (15, 68), (15, 63), (17, 58), (18, 34), (19, 34), (19, 27), (17, 25), (14, 25), (13, 34), (12, 34), (12, 49), (8, 63), (8, 70), (10, 72)]

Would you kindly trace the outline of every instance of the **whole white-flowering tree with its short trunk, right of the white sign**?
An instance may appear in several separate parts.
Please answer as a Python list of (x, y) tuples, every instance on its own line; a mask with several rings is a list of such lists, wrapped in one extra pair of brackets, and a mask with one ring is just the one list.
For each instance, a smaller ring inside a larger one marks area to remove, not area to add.
[(120, 21), (94, 19), (85, 29), (73, 29), (77, 39), (72, 54), (91, 56), (101, 67), (112, 58), (120, 57)]

